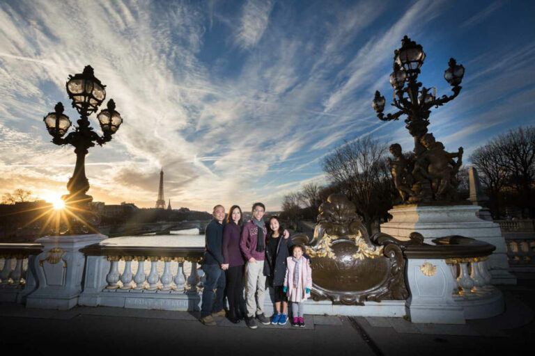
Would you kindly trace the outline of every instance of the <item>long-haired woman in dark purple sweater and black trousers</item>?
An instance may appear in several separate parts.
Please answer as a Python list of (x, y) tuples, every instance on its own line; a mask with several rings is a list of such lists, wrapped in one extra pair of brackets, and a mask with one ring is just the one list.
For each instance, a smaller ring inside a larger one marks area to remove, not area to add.
[(240, 236), (242, 233), (242, 209), (233, 205), (226, 216), (223, 229), (223, 260), (222, 268), (226, 270), (226, 298), (228, 298), (228, 320), (239, 323), (242, 318), (240, 312), (240, 298), (243, 286), (243, 265), (245, 259), (240, 251)]

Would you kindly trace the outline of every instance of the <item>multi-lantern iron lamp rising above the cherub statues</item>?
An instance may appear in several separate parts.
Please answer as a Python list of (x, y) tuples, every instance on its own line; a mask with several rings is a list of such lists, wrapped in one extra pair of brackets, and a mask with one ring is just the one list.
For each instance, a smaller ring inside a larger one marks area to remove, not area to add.
[(385, 109), (385, 97), (382, 97), (378, 91), (375, 92), (372, 103), (380, 120), (398, 120), (401, 115), (407, 115), (405, 124), (414, 137), (415, 154), (419, 154), (425, 149), (420, 140), (427, 133), (428, 118), (431, 114), (430, 108), (444, 105), (459, 95), (462, 88), (459, 84), (465, 74), (465, 68), (462, 65), (457, 65), (456, 60), (451, 58), (448, 63), (449, 67), (444, 72), (444, 79), (451, 85), (453, 95), (442, 95), (442, 97), (436, 98), (428, 88), (422, 87), (422, 84), (418, 82), (420, 67), (424, 64), (425, 58), (426, 54), (421, 45), (405, 35), (401, 40), (401, 48), (394, 51), (394, 70), (390, 74), (390, 83), (394, 88), (392, 105), (399, 110), (385, 116), (382, 113)]

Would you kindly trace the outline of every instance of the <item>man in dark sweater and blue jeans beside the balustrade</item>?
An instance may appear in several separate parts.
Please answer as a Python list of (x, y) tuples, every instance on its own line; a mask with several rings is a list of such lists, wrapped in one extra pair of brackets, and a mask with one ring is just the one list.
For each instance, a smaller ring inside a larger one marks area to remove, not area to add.
[[(225, 316), (225, 272), (222, 269), (224, 263), (222, 254), (223, 240), (223, 220), (225, 218), (225, 208), (216, 205), (212, 212), (214, 218), (205, 232), (205, 251), (203, 257), (203, 271), (206, 275), (204, 283), (203, 301), (201, 305), (201, 323), (208, 326), (215, 326), (212, 316)], [(215, 292), (215, 301), (214, 301)]]

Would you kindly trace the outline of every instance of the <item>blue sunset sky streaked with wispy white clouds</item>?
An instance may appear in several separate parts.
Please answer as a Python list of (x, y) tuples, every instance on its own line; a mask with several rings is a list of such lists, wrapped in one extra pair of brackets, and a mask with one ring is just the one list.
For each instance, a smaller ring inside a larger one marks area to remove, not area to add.
[(429, 129), (467, 157), (534, 124), (534, 33), (534, 1), (1, 1), (0, 193), (67, 193), (75, 154), (49, 142), (42, 117), (61, 101), (77, 120), (65, 81), (89, 64), (124, 119), (86, 159), (95, 200), (153, 207), (163, 166), (173, 207), (279, 209), (325, 183), (321, 159), (344, 140), (412, 149), (403, 120), (371, 107), (375, 90), (390, 102), (405, 34), (438, 95), (449, 58), (465, 66)]

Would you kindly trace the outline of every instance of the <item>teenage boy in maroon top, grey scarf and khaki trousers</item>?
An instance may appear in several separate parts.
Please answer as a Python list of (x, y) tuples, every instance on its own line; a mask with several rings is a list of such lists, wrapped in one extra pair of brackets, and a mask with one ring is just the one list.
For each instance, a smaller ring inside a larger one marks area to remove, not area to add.
[[(253, 217), (243, 225), (242, 238), (240, 238), (240, 250), (247, 259), (247, 318), (245, 318), (245, 323), (251, 329), (256, 329), (254, 316), (264, 325), (270, 324), (264, 315), (265, 275), (263, 270), (265, 236), (267, 235), (267, 228), (262, 219), (264, 213), (264, 204), (253, 204)], [(288, 231), (285, 229), (284, 238), (288, 236)]]

